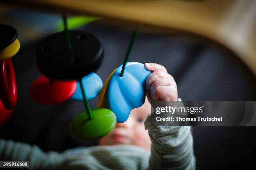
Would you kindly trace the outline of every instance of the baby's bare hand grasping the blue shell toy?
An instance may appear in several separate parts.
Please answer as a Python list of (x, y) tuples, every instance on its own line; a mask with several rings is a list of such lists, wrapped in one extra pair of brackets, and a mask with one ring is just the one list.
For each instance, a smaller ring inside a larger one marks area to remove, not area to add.
[(146, 90), (149, 102), (152, 100), (177, 101), (177, 85), (166, 68), (156, 63), (145, 63), (147, 70), (153, 71), (146, 80)]

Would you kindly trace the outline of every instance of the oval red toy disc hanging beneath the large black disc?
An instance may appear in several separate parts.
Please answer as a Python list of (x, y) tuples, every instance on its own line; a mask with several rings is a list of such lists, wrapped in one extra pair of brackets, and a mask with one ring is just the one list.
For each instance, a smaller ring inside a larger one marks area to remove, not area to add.
[(76, 91), (77, 82), (50, 80), (46, 76), (38, 77), (31, 85), (29, 93), (33, 100), (43, 105), (54, 105), (68, 100)]

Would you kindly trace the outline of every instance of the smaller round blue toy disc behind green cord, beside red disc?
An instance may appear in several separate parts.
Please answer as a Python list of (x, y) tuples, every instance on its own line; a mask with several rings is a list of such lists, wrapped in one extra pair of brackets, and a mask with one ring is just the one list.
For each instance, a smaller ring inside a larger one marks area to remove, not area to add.
[[(89, 75), (84, 76), (82, 78), (82, 82), (84, 84), (87, 100), (92, 100), (100, 94), (103, 83), (101, 78), (96, 73), (92, 72)], [(84, 100), (79, 82), (77, 82), (77, 90), (74, 95), (72, 95), (71, 99), (77, 101)]]

